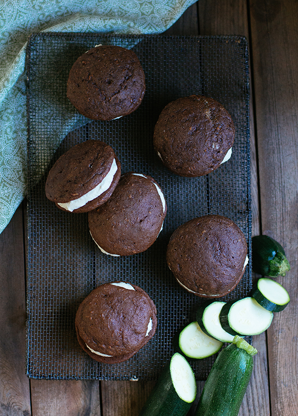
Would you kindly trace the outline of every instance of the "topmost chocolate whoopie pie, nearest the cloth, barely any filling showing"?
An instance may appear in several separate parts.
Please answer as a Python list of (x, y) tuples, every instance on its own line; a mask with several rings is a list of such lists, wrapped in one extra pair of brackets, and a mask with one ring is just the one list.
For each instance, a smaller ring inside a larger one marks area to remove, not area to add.
[(135, 52), (120, 46), (100, 45), (74, 62), (67, 96), (85, 117), (112, 120), (135, 111), (145, 89), (145, 74)]

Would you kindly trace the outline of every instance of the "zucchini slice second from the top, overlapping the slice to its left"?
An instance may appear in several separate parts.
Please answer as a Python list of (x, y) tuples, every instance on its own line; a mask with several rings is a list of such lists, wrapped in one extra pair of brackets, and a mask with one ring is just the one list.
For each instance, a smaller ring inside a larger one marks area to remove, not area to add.
[(220, 314), (222, 327), (232, 335), (257, 335), (270, 327), (272, 319), (273, 312), (252, 297), (227, 302)]

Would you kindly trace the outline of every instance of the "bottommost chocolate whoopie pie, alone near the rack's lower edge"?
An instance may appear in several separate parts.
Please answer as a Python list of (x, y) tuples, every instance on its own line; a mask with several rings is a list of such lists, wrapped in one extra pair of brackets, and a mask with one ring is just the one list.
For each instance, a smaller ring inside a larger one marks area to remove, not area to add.
[(94, 360), (119, 363), (136, 354), (154, 335), (156, 308), (131, 283), (104, 283), (79, 305), (75, 330), (82, 349)]

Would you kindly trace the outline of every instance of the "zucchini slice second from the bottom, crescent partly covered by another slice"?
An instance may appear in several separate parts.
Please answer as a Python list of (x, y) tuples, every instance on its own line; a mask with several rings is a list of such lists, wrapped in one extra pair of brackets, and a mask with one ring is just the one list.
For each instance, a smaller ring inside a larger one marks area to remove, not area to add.
[(225, 302), (215, 301), (201, 305), (197, 310), (196, 318), (201, 330), (209, 336), (222, 342), (232, 342), (234, 335), (224, 331), (220, 322), (220, 313)]

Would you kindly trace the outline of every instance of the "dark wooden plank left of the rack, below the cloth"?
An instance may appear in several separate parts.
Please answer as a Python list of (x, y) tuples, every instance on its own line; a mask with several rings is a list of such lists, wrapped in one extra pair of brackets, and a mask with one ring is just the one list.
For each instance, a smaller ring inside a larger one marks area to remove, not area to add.
[(0, 415), (29, 416), (22, 207), (0, 235)]

